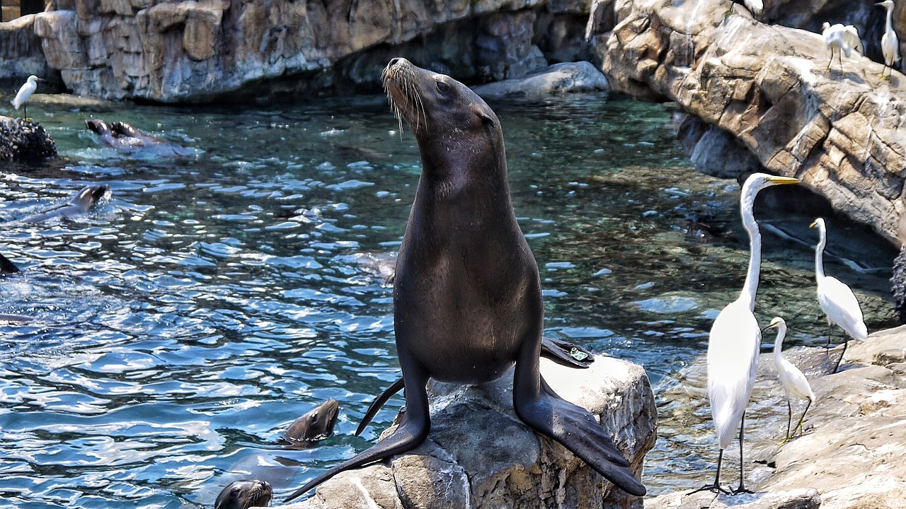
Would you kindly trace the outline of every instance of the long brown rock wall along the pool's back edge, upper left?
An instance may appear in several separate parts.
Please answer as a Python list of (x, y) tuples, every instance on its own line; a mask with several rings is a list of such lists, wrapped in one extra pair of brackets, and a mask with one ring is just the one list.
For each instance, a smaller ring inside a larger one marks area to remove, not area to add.
[(374, 87), (400, 55), (460, 81), (521, 76), (592, 54), (587, 12), (581, 0), (53, 0), (34, 34), (77, 95), (198, 102)]

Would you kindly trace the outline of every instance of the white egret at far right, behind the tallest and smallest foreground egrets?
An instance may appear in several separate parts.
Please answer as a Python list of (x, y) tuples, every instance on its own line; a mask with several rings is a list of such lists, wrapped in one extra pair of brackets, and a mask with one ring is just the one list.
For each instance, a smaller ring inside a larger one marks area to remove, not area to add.
[[(818, 283), (818, 303), (821, 310), (827, 315), (827, 323), (836, 323), (846, 331), (853, 340), (865, 341), (868, 338), (868, 328), (862, 318), (862, 308), (859, 301), (849, 286), (841, 283), (833, 276), (824, 275), (824, 246), (827, 245), (827, 229), (824, 219), (818, 217), (809, 226), (818, 228), (818, 245), (814, 248), (814, 279)], [(846, 353), (846, 343), (843, 339), (843, 353), (834, 365), (834, 371), (840, 367), (843, 354)]]

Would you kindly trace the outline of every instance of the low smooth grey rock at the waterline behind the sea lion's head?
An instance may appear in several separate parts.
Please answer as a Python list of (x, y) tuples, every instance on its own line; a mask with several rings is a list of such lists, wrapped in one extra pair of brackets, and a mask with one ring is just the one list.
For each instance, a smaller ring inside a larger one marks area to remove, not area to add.
[(566, 92), (608, 91), (610, 86), (602, 72), (591, 62), (555, 63), (530, 72), (523, 78), (478, 85), (473, 90), (482, 97), (542, 99)]

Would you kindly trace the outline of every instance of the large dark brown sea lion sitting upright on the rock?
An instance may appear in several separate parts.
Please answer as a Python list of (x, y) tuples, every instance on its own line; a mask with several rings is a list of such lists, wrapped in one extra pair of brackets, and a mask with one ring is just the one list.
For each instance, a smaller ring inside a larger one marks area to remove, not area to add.
[(400, 127), (405, 120), (415, 134), (422, 162), (393, 288), (406, 412), (390, 436), (286, 501), (344, 470), (418, 447), (430, 429), (429, 379), (478, 384), (514, 364), (516, 416), (614, 485), (644, 495), (592, 414), (561, 399), (541, 377), (541, 281), (510, 201), (494, 111), (462, 83), (402, 58), (388, 63), (383, 82)]

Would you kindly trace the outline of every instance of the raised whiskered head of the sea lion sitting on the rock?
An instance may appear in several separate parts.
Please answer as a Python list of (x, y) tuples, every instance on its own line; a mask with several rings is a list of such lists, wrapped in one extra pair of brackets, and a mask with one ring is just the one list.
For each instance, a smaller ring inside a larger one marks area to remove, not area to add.
[(400, 130), (406, 120), (419, 142), (441, 132), (499, 130), (497, 117), (487, 103), (446, 74), (394, 58), (384, 68), (383, 82), (390, 107), (400, 120)]

